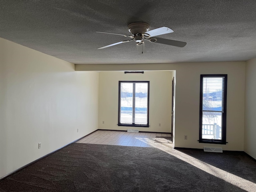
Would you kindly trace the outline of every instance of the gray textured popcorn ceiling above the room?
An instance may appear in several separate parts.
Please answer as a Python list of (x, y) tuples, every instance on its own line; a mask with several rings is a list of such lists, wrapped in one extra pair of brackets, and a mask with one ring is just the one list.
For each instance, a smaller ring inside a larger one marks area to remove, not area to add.
[[(138, 54), (127, 40), (131, 22), (184, 48), (145, 42)], [(245, 61), (256, 57), (255, 0), (1, 0), (0, 37), (74, 64)]]

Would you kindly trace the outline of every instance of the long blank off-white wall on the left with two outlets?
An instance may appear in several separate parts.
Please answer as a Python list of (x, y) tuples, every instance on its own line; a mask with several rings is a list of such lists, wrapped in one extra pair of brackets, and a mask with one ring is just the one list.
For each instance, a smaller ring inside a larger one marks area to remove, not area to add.
[(97, 72), (0, 38), (0, 178), (97, 129)]

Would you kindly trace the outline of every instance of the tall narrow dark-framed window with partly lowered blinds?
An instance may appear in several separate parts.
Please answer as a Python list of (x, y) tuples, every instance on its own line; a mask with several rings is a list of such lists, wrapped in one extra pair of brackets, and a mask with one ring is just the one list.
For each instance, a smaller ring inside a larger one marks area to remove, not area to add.
[(226, 144), (227, 75), (201, 75), (199, 142)]

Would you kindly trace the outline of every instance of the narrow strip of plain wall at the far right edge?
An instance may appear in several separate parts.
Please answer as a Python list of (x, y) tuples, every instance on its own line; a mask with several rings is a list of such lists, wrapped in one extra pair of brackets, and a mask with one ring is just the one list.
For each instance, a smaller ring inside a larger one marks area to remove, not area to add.
[(244, 151), (256, 159), (256, 58), (246, 62)]

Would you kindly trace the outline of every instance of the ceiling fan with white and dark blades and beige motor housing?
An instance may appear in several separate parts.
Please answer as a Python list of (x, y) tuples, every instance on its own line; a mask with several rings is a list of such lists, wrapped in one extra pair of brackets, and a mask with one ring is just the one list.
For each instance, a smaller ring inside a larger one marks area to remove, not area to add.
[(114, 34), (114, 35), (121, 35), (121, 36), (132, 38), (130, 40), (120, 41), (120, 42), (113, 43), (113, 44), (110, 44), (110, 45), (107, 45), (104, 47), (100, 47), (98, 49), (104, 49), (107, 47), (111, 47), (114, 45), (130, 42), (130, 41), (134, 40), (135, 42), (137, 42), (136, 43), (137, 51), (140, 54), (143, 54), (146, 52), (144, 40), (148, 40), (149, 42), (152, 42), (152, 43), (161, 43), (161, 44), (172, 45), (172, 46), (176, 46), (176, 47), (184, 47), (187, 44), (186, 42), (182, 42), (182, 41), (175, 41), (175, 40), (155, 37), (158, 35), (172, 33), (173, 30), (168, 27), (160, 27), (160, 28), (156, 28), (156, 29), (149, 31), (149, 24), (144, 23), (144, 22), (134, 22), (134, 23), (129, 24), (128, 28), (129, 28), (129, 32), (131, 33), (131, 35), (96, 31), (97, 33)]

